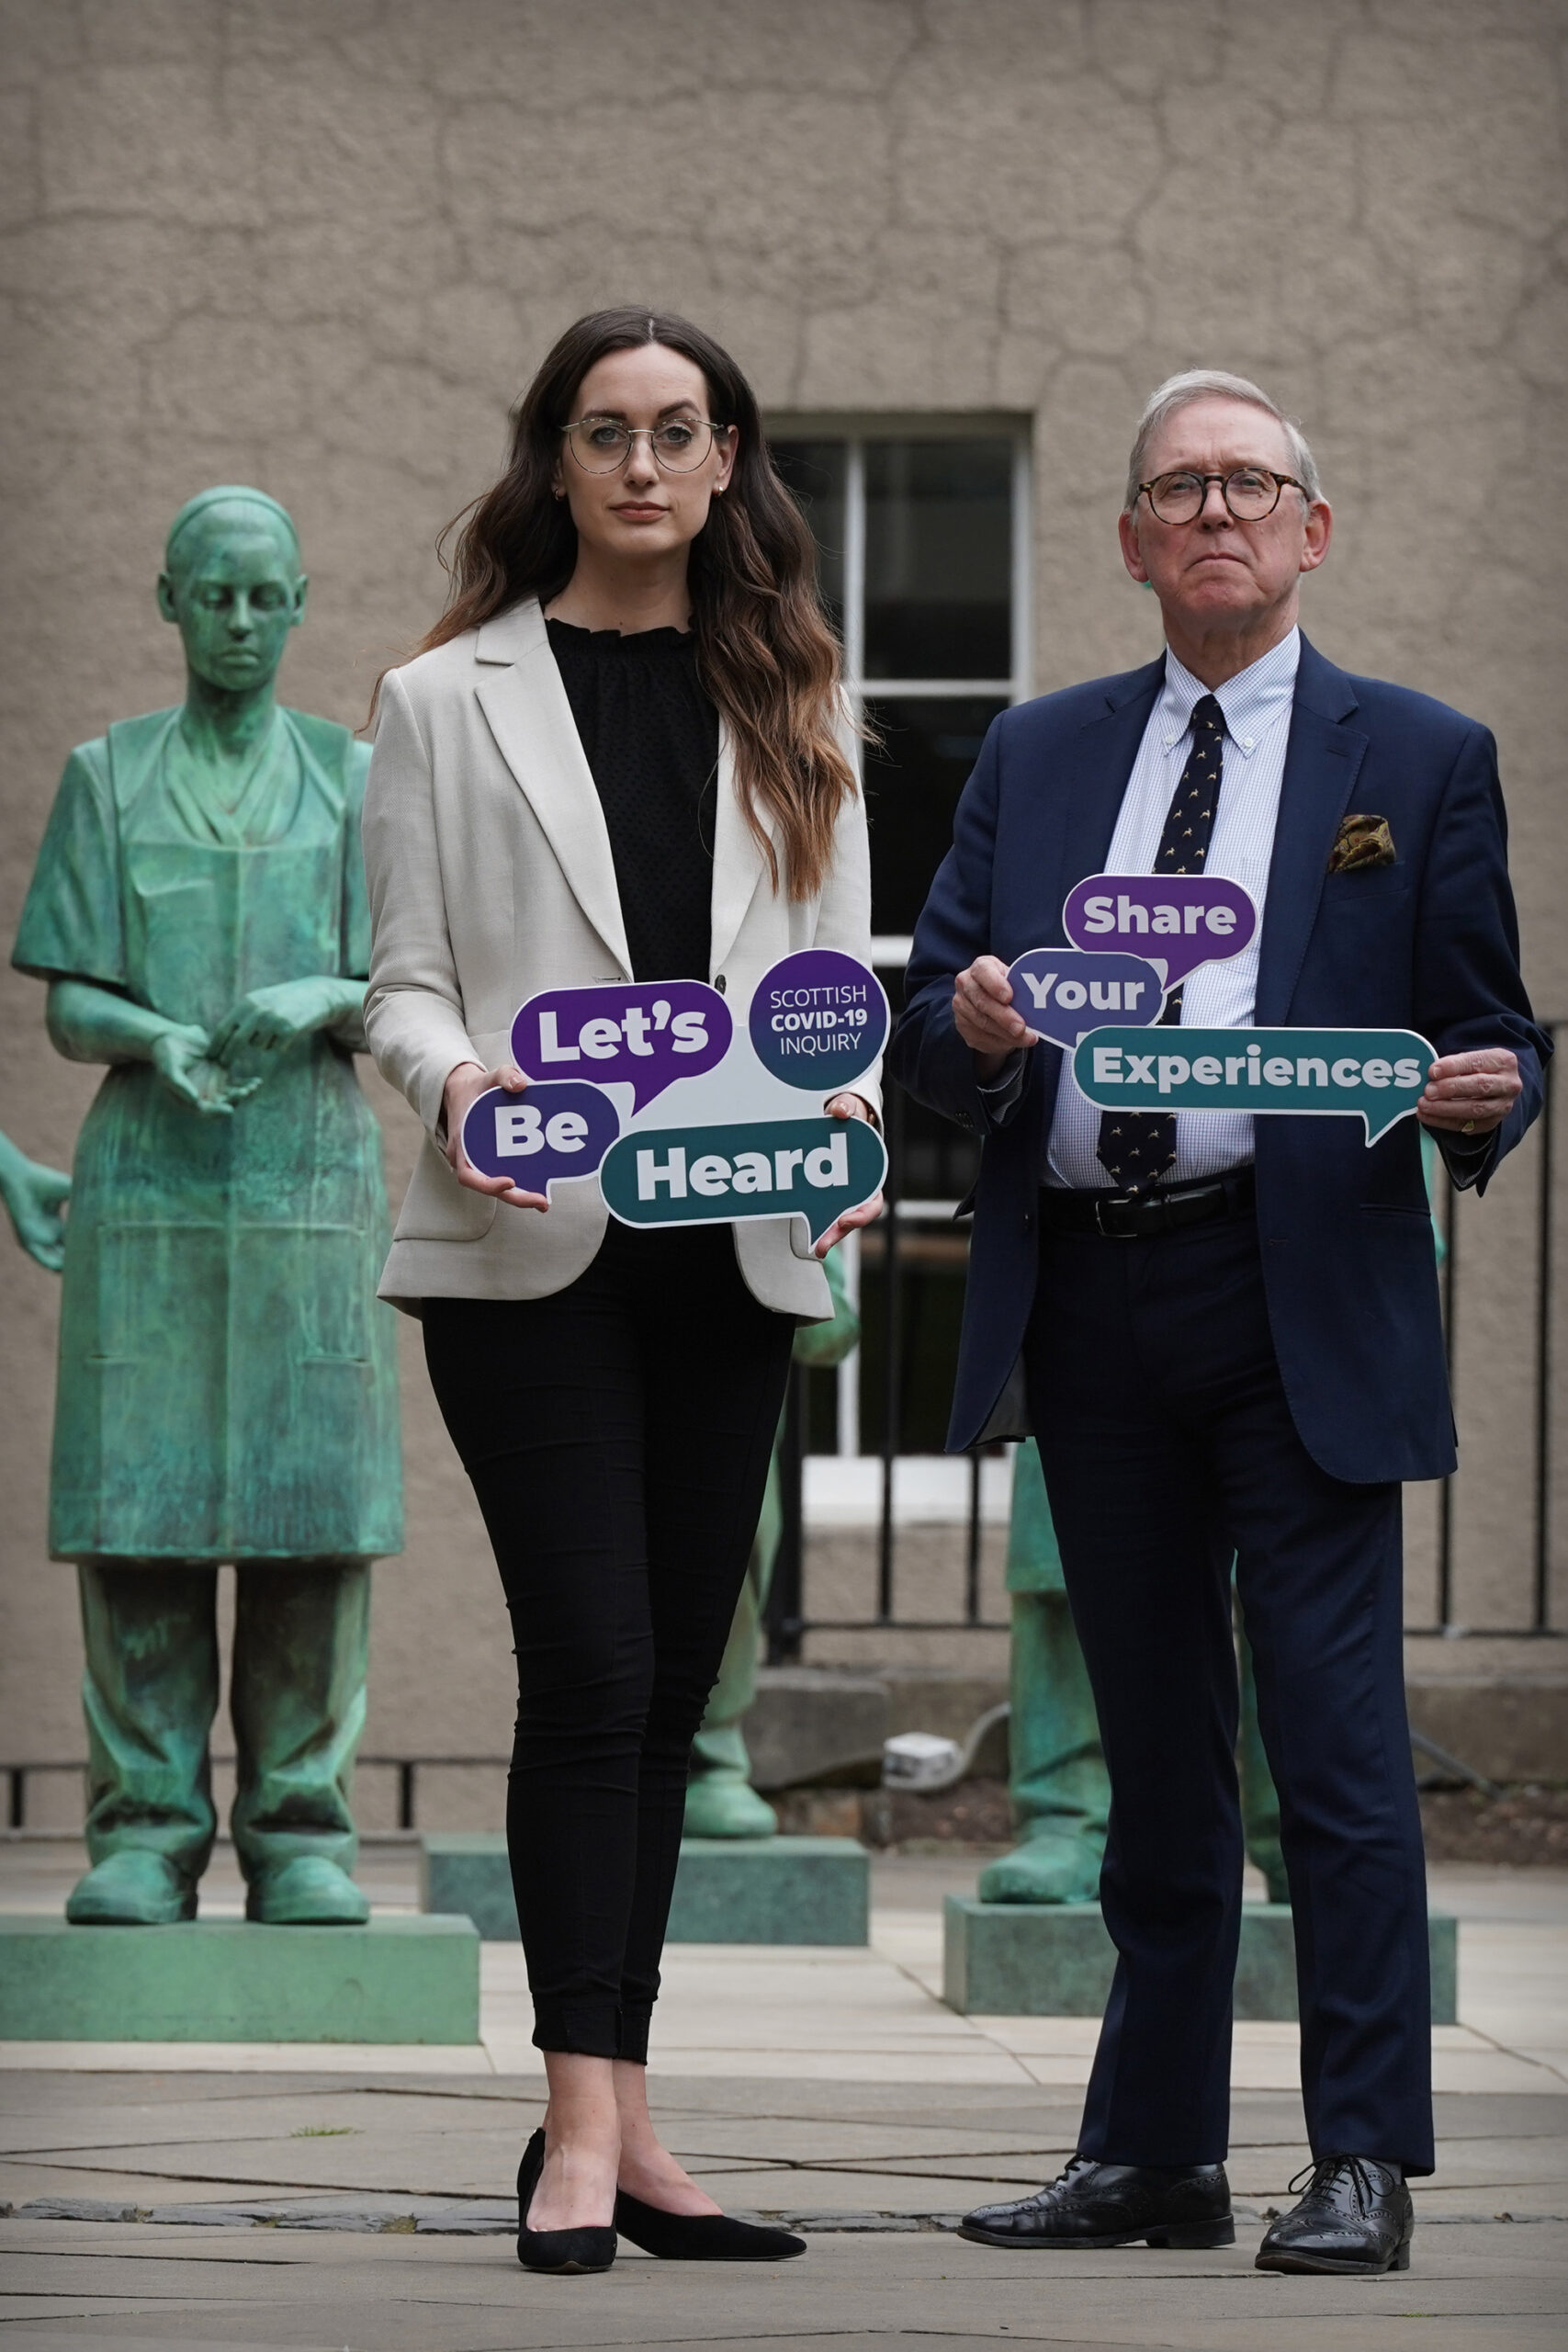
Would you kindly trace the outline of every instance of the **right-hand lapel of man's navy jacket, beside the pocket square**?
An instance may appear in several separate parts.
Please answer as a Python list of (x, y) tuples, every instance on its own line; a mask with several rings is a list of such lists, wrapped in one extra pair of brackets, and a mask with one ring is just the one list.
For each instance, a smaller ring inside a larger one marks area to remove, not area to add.
[(1291, 1011), (1307, 938), (1324, 896), (1328, 851), (1366, 757), (1368, 739), (1356, 727), (1345, 724), (1354, 710), (1356, 689), (1345, 670), (1335, 670), (1302, 637), (1258, 950), (1255, 1018), (1260, 1028), (1286, 1021)]

